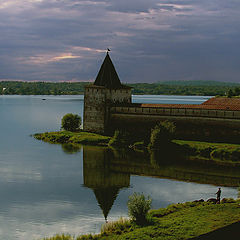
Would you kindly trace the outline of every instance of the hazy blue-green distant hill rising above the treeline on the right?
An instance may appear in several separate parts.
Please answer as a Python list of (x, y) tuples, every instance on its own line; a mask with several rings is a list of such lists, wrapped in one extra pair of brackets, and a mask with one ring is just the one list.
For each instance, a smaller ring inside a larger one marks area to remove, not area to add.
[(206, 80), (198, 80), (198, 81), (163, 81), (158, 82), (158, 84), (164, 85), (178, 85), (178, 86), (230, 86), (237, 87), (240, 86), (240, 83), (234, 82), (219, 82), (219, 81), (206, 81)]

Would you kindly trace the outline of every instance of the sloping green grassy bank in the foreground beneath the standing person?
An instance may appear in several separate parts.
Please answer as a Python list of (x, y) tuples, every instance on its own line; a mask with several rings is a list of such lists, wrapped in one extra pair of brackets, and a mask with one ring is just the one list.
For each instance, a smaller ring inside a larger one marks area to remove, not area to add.
[[(78, 237), (59, 235), (45, 240), (107, 240), (107, 239), (189, 239), (240, 221), (240, 201), (212, 204), (188, 202), (151, 210), (150, 223), (137, 226), (129, 220), (120, 219), (107, 223), (98, 235)], [(229, 236), (230, 237), (230, 236)]]

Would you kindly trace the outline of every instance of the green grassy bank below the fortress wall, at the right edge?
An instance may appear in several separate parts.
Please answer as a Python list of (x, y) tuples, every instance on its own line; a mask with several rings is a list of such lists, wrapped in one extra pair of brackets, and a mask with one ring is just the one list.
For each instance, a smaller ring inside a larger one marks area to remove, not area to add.
[(240, 145), (227, 143), (208, 143), (198, 141), (174, 140), (182, 147), (185, 155), (203, 160), (240, 163)]

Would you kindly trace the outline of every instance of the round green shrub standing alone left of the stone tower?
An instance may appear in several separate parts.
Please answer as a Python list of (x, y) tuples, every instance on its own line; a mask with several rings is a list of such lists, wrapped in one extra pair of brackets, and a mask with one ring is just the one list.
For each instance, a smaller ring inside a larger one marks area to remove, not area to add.
[(62, 118), (62, 128), (66, 131), (76, 132), (81, 126), (81, 117), (77, 114), (68, 113)]

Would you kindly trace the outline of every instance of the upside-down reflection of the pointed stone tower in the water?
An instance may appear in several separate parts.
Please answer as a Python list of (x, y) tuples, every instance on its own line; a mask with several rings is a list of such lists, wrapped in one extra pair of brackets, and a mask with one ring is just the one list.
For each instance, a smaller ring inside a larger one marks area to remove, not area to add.
[(119, 190), (130, 184), (129, 174), (110, 171), (110, 159), (109, 149), (83, 147), (84, 185), (93, 190), (105, 220)]

